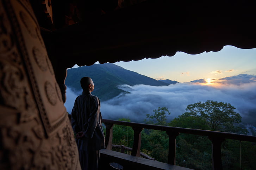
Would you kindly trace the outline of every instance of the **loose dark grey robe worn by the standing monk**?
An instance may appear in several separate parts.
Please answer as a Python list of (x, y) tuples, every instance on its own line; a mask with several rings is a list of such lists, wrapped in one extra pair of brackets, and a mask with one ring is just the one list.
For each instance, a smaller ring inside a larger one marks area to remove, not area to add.
[(83, 131), (85, 135), (83, 138), (76, 139), (79, 152), (83, 152), (80, 154), (80, 163), (83, 166), (89, 162), (82, 155), (92, 154), (93, 151), (96, 153), (97, 150), (105, 148), (99, 98), (83, 90), (82, 95), (76, 98), (71, 114), (71, 124), (75, 134)]

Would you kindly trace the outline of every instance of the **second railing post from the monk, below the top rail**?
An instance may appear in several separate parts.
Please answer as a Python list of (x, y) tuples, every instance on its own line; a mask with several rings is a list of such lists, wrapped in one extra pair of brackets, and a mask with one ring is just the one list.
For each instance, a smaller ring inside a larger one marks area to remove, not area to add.
[(137, 128), (132, 127), (134, 131), (134, 137), (133, 137), (133, 147), (132, 147), (132, 153), (133, 156), (141, 156), (141, 131), (143, 128)]

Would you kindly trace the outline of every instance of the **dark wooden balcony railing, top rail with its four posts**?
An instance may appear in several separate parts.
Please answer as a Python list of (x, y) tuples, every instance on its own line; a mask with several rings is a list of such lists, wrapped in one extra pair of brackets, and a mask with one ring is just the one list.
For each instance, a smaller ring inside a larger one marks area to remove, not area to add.
[(102, 122), (104, 122), (106, 125), (106, 138), (105, 138), (106, 149), (110, 149), (110, 150), (112, 149), (113, 125), (117, 124), (117, 125), (132, 127), (132, 129), (134, 130), (134, 138), (133, 138), (133, 147), (132, 147), (131, 155), (138, 156), (138, 157), (140, 156), (141, 131), (143, 129), (154, 129), (154, 130), (166, 131), (167, 135), (169, 136), (168, 164), (172, 164), (172, 165), (175, 165), (176, 137), (180, 133), (208, 136), (208, 138), (212, 142), (212, 166), (213, 166), (212, 169), (213, 170), (222, 170), (221, 143), (225, 139), (256, 142), (256, 136), (233, 134), (233, 133), (227, 133), (227, 132), (178, 128), (178, 127), (169, 127), (169, 126), (152, 125), (152, 124), (144, 124), (144, 123), (115, 121), (115, 120), (108, 120), (108, 119), (103, 119)]

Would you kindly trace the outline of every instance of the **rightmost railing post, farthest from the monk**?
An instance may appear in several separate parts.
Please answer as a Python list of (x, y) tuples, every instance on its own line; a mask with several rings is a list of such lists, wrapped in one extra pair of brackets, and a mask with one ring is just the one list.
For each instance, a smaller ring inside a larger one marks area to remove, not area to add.
[(208, 136), (208, 138), (212, 141), (212, 169), (222, 170), (221, 143), (225, 139), (211, 136)]

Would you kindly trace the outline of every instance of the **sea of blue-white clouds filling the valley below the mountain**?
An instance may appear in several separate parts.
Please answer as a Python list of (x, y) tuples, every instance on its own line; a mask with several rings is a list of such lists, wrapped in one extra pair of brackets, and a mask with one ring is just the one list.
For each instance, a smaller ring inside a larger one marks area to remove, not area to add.
[[(143, 123), (146, 114), (154, 114), (153, 110), (158, 107), (167, 107), (171, 113), (167, 117), (170, 121), (183, 114), (188, 104), (213, 100), (230, 103), (236, 108), (237, 113), (243, 118), (248, 118), (252, 112), (256, 116), (255, 80), (256, 76), (244, 74), (226, 77), (219, 83), (208, 86), (203, 85), (203, 79), (160, 87), (124, 84), (119, 88), (130, 93), (120, 94), (111, 100), (101, 102), (101, 113), (106, 119), (130, 118), (132, 122)], [(67, 101), (64, 105), (69, 113), (71, 113), (77, 95), (79, 94), (75, 94), (67, 87)], [(251, 118), (254, 119), (253, 116)]]

